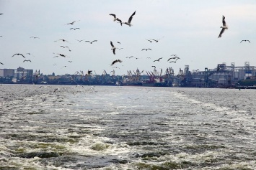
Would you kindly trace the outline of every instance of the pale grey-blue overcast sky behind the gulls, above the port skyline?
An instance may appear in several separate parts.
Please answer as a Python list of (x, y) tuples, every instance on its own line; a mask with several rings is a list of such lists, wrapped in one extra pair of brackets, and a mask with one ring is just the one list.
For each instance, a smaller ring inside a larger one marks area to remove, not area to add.
[[(109, 15), (128, 22), (134, 11), (131, 27), (121, 26)], [(0, 62), (4, 64), (0, 69), (24, 67), (43, 75), (72, 75), (80, 70), (101, 75), (115, 70), (115, 75), (127, 75), (137, 68), (153, 71), (153, 65), (163, 72), (172, 67), (175, 74), (185, 65), (190, 71), (231, 62), (255, 66), (255, 11), (255, 0), (0, 0)], [(218, 38), (223, 15), (229, 29)], [(81, 39), (97, 42), (77, 41)], [(240, 43), (243, 39), (251, 43)], [(110, 41), (118, 48), (115, 55)], [(171, 55), (180, 60), (167, 62)], [(114, 60), (122, 62), (111, 66)]]

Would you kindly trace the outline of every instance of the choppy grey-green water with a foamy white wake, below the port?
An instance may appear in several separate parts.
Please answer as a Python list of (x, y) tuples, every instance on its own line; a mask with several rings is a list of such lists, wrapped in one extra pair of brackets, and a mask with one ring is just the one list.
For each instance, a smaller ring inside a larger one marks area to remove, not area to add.
[(39, 87), (0, 86), (0, 169), (256, 169), (256, 90)]

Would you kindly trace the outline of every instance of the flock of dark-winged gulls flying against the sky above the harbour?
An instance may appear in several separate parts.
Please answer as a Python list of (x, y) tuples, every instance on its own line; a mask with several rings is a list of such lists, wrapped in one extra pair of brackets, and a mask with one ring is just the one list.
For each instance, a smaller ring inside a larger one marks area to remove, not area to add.
[[(118, 18), (115, 14), (109, 14), (110, 16), (113, 16), (113, 21), (114, 22), (118, 22), (118, 23), (120, 23), (120, 25), (121, 26), (123, 26), (123, 24), (126, 24), (126, 25), (128, 25), (129, 27), (131, 27), (132, 26), (132, 24), (131, 24), (131, 22), (132, 22), (132, 19), (133, 19), (133, 17), (135, 16), (135, 14), (136, 14), (136, 11), (134, 11), (133, 12), (133, 14), (131, 14), (131, 16), (129, 17), (129, 19), (128, 19), (128, 22), (122, 22), (122, 20), (120, 19), (120, 18)], [(2, 14), (0, 14), (0, 15), (2, 15)], [(80, 20), (78, 20), (78, 21), (74, 21), (74, 22), (69, 22), (69, 23), (67, 23), (67, 24), (65, 24), (65, 25), (74, 25), (74, 24), (76, 24), (76, 22), (79, 22)], [(222, 26), (221, 26), (221, 32), (219, 33), (219, 37), (218, 38), (220, 38), (221, 36), (222, 36), (222, 34), (224, 34), (224, 32), (225, 32), (225, 30), (226, 29), (228, 29), (229, 27), (226, 25), (226, 21), (225, 21), (225, 16), (222, 16)], [(80, 29), (79, 27), (71, 27), (70, 29), (73, 29), (73, 30), (76, 30), (76, 29)], [(1, 36), (2, 37), (2, 36)], [(30, 37), (31, 39), (40, 39), (40, 37)], [(160, 39), (162, 39), (162, 38), (160, 38)], [(146, 39), (148, 42), (159, 42), (159, 40), (160, 39)], [(92, 43), (94, 43), (94, 42), (97, 42), (97, 40), (96, 39), (94, 39), (94, 40), (92, 40), (92, 41), (89, 41), (89, 40), (84, 40), (84, 39), (76, 39), (76, 41), (78, 41), (78, 42), (87, 42), (87, 43), (89, 43), (89, 44), (92, 44)], [(57, 39), (56, 41), (54, 41), (54, 42), (67, 42), (67, 43), (69, 43), (70, 44), (70, 42), (69, 41), (67, 41), (66, 39)], [(240, 43), (242, 43), (242, 42), (250, 42), (250, 40), (247, 40), (247, 39), (244, 39), (244, 40), (242, 40)], [(121, 44), (120, 42), (117, 42), (118, 44)], [(115, 47), (115, 45), (113, 44), (113, 42), (112, 41), (110, 41), (110, 46), (111, 46), (111, 50), (112, 50), (112, 53), (113, 53), (113, 55), (115, 55), (116, 54), (116, 50), (117, 49), (123, 49), (123, 48), (118, 48), (118, 47)], [(66, 45), (61, 45), (60, 47), (62, 47), (63, 49), (68, 49), (69, 50), (69, 52), (71, 52), (71, 49), (69, 48), (69, 46), (66, 46)], [(143, 49), (141, 49), (141, 51), (151, 51), (152, 49), (151, 48), (143, 48)], [(69, 57), (68, 55), (63, 55), (63, 54), (61, 54), (61, 53), (54, 53), (53, 52), (53, 54), (55, 55), (53, 58), (55, 58), (55, 57)], [(23, 60), (23, 62), (31, 62), (31, 60), (28, 60), (26, 57), (25, 57), (25, 55), (22, 55), (21, 53), (15, 53), (14, 55), (12, 55), (12, 57), (14, 57), (14, 56), (21, 56), (21, 57), (23, 57), (23, 58), (25, 58), (25, 60)], [(31, 53), (27, 53), (26, 55), (32, 55)], [(34, 56), (34, 55), (32, 55), (32, 56)], [(126, 58), (128, 58), (128, 59), (131, 59), (131, 58), (135, 58), (135, 59), (138, 59), (138, 57), (133, 57), (133, 56), (131, 56), (131, 57), (126, 57)], [(147, 59), (150, 59), (150, 57), (147, 57)], [(163, 59), (163, 57), (160, 57), (159, 59), (157, 59), (157, 60), (153, 60), (153, 62), (159, 62), (160, 60), (162, 60)], [(171, 55), (171, 57), (169, 57), (169, 59), (167, 60), (167, 62), (169, 62), (169, 63), (171, 63), (171, 62), (173, 62), (173, 63), (176, 63), (177, 62), (177, 60), (180, 60), (180, 57), (177, 57), (177, 55)], [(71, 60), (69, 60), (68, 62), (72, 62)], [(115, 65), (116, 63), (121, 63), (121, 62), (123, 62), (122, 60), (120, 60), (120, 59), (118, 59), (118, 60), (114, 60), (114, 61), (112, 61), (111, 62), (111, 66), (113, 66), (113, 65)], [(3, 62), (0, 62), (0, 64), (1, 65), (4, 65), (4, 63)], [(56, 65), (56, 64), (54, 64), (54, 65)], [(64, 66), (64, 67), (67, 67), (66, 65)], [(152, 65), (151, 67), (154, 67), (154, 69), (156, 68), (156, 66), (154, 66), (154, 65)], [(113, 68), (119, 68), (119, 67), (113, 67)]]

